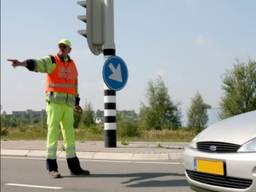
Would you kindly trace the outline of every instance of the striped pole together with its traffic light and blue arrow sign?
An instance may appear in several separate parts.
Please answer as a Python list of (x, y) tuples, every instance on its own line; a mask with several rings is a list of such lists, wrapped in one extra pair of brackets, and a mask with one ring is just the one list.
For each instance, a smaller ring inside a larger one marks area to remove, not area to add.
[(87, 38), (94, 55), (104, 55), (104, 140), (105, 147), (116, 147), (116, 91), (126, 84), (128, 70), (115, 56), (114, 0), (84, 0), (78, 4), (86, 8), (86, 15), (78, 18), (87, 23), (87, 30), (79, 33)]

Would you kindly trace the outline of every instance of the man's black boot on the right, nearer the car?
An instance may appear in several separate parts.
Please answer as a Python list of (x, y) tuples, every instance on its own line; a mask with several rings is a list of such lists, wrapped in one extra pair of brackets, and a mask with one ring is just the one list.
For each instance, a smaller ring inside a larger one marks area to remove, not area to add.
[(83, 170), (77, 157), (67, 158), (68, 168), (71, 175), (90, 175), (90, 172)]

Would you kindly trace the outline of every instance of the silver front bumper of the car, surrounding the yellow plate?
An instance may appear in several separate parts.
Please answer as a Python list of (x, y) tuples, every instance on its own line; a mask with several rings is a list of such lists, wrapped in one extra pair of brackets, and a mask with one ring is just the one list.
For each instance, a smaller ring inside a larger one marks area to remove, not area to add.
[[(215, 176), (195, 170), (195, 159), (220, 160), (225, 163), (225, 175)], [(256, 153), (206, 153), (196, 149), (186, 148), (184, 152), (185, 174), (188, 182), (194, 188), (221, 192), (256, 192)], [(192, 175), (191, 175), (192, 174)], [(195, 174), (195, 175), (194, 175)], [(201, 179), (200, 179), (201, 178)], [(217, 180), (215, 180), (217, 178)], [(249, 182), (246, 187), (240, 185), (239, 180)], [(222, 181), (231, 181), (223, 185)], [(232, 185), (232, 181), (234, 185)]]

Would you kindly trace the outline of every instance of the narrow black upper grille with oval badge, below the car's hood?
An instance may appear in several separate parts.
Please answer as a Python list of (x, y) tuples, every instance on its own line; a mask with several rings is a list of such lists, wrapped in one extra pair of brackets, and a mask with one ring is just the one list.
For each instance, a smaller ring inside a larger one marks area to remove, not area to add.
[(234, 153), (240, 148), (240, 145), (233, 143), (224, 142), (198, 142), (197, 149), (204, 152), (214, 152), (214, 153)]

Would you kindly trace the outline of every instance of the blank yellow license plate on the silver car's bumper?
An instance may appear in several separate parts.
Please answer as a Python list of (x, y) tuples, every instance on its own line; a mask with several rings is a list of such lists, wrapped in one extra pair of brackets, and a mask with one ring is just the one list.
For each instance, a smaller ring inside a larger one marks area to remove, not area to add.
[(224, 162), (219, 160), (196, 159), (196, 171), (224, 175)]

